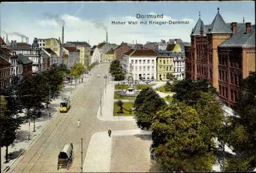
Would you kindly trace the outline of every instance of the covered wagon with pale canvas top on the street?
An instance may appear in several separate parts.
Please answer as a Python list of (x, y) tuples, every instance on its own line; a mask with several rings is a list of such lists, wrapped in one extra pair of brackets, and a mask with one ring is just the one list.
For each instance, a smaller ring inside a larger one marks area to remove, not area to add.
[(65, 166), (68, 170), (69, 164), (72, 161), (72, 154), (73, 154), (73, 144), (70, 143), (65, 145), (62, 151), (59, 153), (57, 169), (59, 169), (62, 166)]

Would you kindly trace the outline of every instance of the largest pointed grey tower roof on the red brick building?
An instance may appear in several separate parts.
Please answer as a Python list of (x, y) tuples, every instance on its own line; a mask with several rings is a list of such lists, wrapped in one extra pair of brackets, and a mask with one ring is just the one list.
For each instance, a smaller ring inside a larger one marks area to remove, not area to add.
[(225, 34), (231, 34), (232, 30), (230, 27), (228, 27), (225, 23), (225, 21), (223, 20), (220, 12), (219, 12), (219, 8), (218, 8), (218, 13), (216, 14), (214, 20), (212, 21), (212, 23), (210, 24), (209, 27), (210, 30), (208, 30), (209, 34), (211, 33), (225, 33)]

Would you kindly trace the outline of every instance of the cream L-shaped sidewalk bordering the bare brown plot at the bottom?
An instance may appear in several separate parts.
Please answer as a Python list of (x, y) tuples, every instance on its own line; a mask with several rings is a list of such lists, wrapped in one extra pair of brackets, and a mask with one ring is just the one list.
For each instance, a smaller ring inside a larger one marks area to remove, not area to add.
[[(112, 136), (151, 135), (151, 132), (141, 129), (128, 131), (113, 131), (111, 137), (108, 132), (98, 132), (92, 135), (83, 162), (83, 172), (110, 172)], [(100, 166), (99, 166), (100, 165)]]

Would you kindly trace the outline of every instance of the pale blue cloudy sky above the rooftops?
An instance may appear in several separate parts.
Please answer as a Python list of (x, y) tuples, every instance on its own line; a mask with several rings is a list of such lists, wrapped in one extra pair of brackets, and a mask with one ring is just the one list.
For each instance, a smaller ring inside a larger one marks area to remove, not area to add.
[[(122, 41), (129, 44), (145, 44), (146, 41), (181, 38), (190, 42), (199, 12), (205, 25), (209, 25), (220, 8), (226, 23), (236, 21), (255, 24), (253, 1), (227, 2), (77, 2), (36, 3), (15, 2), (0, 4), (0, 34), (9, 40), (22, 41), (18, 34), (29, 37), (29, 44), (36, 38), (61, 39), (61, 27), (65, 23), (66, 41), (87, 41), (91, 46), (106, 40), (111, 44)], [(139, 15), (163, 14), (163, 18), (137, 18)], [(55, 19), (54, 19), (55, 17)], [(59, 20), (57, 20), (59, 19)], [(112, 21), (125, 21), (113, 25)], [(129, 25), (128, 21), (137, 21)], [(147, 24), (140, 22), (147, 21)], [(165, 25), (149, 24), (150, 21), (166, 21)], [(169, 21), (188, 21), (188, 24), (169, 24)], [(15, 34), (13, 34), (15, 33)], [(25, 41), (25, 39), (24, 39)]]

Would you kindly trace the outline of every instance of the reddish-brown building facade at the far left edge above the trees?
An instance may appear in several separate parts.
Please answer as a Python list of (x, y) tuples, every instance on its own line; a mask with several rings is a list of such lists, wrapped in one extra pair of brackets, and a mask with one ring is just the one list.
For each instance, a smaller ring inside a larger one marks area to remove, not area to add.
[(4, 90), (6, 87), (9, 86), (11, 75), (11, 63), (9, 63), (8, 60), (6, 60), (4, 57), (0, 55), (0, 88), (1, 91)]

